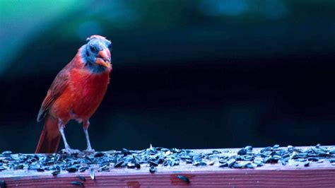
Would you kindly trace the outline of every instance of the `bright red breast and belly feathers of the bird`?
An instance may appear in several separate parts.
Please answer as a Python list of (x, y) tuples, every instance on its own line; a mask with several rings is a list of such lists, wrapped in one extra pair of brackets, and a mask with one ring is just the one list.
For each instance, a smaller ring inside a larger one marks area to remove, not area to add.
[(49, 113), (63, 122), (89, 119), (97, 110), (107, 90), (109, 74), (90, 74), (85, 69), (71, 69), (64, 92), (54, 101)]

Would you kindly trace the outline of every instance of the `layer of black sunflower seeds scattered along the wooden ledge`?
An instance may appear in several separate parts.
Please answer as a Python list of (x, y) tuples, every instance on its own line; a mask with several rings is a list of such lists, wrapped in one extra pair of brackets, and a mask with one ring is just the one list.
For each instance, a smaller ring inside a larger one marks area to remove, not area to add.
[(157, 166), (176, 166), (186, 163), (194, 166), (215, 165), (218, 168), (257, 168), (266, 163), (281, 163), (282, 165), (304, 165), (323, 163), (329, 160), (335, 165), (335, 146), (312, 146), (310, 148), (295, 148), (293, 146), (280, 148), (278, 145), (254, 151), (252, 146), (246, 146), (239, 151), (213, 150), (206, 153), (199, 151), (152, 147), (141, 151), (106, 151), (95, 153), (64, 153), (45, 154), (13, 154), (4, 151), (0, 154), (0, 172), (3, 170), (49, 170), (52, 175), (58, 175), (61, 170), (68, 172), (84, 172), (90, 169), (94, 179), (94, 171), (110, 171), (111, 168), (139, 169), (148, 166), (150, 172), (155, 172)]

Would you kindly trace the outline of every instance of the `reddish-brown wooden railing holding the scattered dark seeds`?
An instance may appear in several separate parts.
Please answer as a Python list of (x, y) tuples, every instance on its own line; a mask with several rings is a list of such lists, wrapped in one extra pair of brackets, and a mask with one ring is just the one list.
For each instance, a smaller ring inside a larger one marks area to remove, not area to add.
[[(249, 153), (254, 153), (250, 154), (254, 157), (259, 156), (260, 150), (261, 148), (254, 148)], [(3, 187), (335, 187), (335, 155), (329, 151), (324, 155), (320, 154), (322, 157), (317, 153), (314, 157), (304, 156), (303, 152), (307, 151), (307, 147), (298, 147), (295, 151), (290, 151), (286, 162), (282, 160), (283, 157), (279, 160), (276, 157), (272, 161), (264, 160), (266, 156), (263, 155), (261, 161), (264, 164), (257, 163), (257, 158), (250, 160), (250, 163), (245, 158), (241, 160), (238, 156), (248, 154), (240, 149), (193, 151), (204, 154), (201, 160), (203, 163), (196, 164), (194, 160), (187, 163), (186, 160), (180, 159), (180, 163), (173, 166), (169, 164), (164, 166), (163, 163), (157, 166), (141, 163), (141, 168), (134, 168), (131, 165), (130, 168), (127, 166), (115, 168), (115, 163), (110, 163), (105, 170), (92, 166), (92, 170), (89, 168), (85, 172), (61, 170), (58, 175), (52, 175), (54, 170), (37, 172), (27, 170), (27, 167), (19, 170), (3, 168), (0, 171), (0, 182)], [(237, 152), (242, 155), (237, 155)], [(270, 155), (273, 157), (276, 154)], [(230, 161), (231, 156), (235, 156), (233, 165)], [(4, 156), (2, 159), (4, 166), (6, 163)]]

